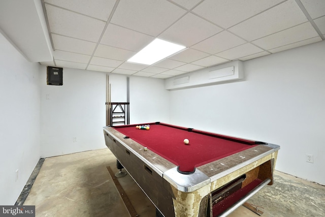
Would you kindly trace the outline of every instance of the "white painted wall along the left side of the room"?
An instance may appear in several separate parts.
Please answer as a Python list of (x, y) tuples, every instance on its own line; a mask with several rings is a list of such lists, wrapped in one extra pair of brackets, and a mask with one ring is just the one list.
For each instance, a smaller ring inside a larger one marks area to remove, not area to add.
[(0, 33), (0, 67), (0, 204), (14, 205), (40, 159), (40, 65)]

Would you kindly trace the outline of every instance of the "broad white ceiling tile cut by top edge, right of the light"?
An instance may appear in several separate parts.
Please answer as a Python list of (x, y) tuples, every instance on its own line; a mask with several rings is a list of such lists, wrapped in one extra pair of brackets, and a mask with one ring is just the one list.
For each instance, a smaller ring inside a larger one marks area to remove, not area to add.
[(283, 0), (205, 0), (192, 11), (223, 28), (229, 28), (280, 2)]

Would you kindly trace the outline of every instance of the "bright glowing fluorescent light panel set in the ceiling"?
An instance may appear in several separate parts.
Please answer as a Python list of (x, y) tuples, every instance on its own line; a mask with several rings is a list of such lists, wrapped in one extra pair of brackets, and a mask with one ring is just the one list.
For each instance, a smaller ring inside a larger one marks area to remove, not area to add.
[(152, 65), (184, 48), (185, 47), (182, 45), (155, 39), (127, 61), (137, 64)]

